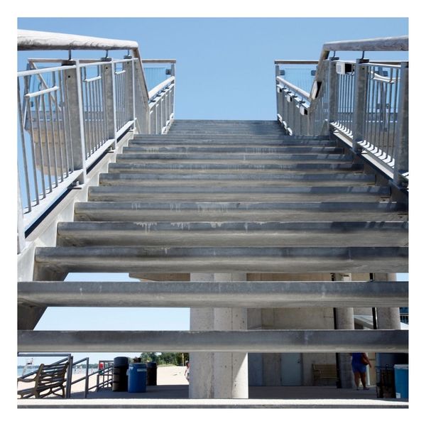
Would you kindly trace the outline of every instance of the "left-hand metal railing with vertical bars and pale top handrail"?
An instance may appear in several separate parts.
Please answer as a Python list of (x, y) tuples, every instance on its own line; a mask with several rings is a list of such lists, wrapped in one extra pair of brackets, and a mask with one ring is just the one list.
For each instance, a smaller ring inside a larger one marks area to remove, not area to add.
[[(175, 60), (144, 61), (171, 64), (148, 92), (136, 42), (18, 30), (18, 50), (35, 49), (66, 49), (69, 58), (30, 59), (18, 72), (18, 253), (25, 231), (126, 131), (165, 133), (174, 118)], [(83, 49), (107, 54), (71, 59)], [(111, 59), (109, 50), (127, 55)]]

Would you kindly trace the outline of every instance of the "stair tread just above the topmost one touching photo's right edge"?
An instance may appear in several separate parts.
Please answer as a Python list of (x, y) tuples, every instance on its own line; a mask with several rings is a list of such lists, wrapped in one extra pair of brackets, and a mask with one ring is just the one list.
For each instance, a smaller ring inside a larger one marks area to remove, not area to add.
[(201, 187), (194, 184), (173, 186), (89, 187), (88, 201), (349, 201), (381, 200), (389, 197), (389, 187), (378, 186), (295, 186)]

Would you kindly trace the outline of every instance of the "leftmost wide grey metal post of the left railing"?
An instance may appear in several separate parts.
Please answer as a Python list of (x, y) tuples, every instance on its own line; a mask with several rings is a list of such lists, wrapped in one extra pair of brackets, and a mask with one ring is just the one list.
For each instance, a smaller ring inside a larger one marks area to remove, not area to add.
[(84, 140), (84, 115), (80, 61), (64, 61), (62, 65), (75, 65), (75, 68), (65, 70), (67, 87), (68, 110), (70, 117), (70, 136), (72, 143), (72, 164), (74, 170), (82, 170), (78, 180), (84, 183), (86, 177), (86, 141)]

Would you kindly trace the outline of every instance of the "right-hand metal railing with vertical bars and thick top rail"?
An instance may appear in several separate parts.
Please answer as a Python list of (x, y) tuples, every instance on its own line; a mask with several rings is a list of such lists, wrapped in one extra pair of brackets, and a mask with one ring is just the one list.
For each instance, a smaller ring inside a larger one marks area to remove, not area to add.
[[(339, 50), (362, 58), (339, 60)], [(290, 135), (335, 133), (408, 187), (408, 62), (370, 62), (367, 50), (408, 50), (408, 37), (326, 43), (319, 61), (275, 60), (278, 121)], [(282, 77), (283, 65), (306, 64), (317, 64), (310, 93)]]

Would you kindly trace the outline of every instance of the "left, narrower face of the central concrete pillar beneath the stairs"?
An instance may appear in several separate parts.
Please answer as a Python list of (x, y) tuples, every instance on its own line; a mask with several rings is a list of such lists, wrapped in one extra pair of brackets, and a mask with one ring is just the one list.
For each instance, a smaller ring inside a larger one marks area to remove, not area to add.
[[(212, 273), (191, 273), (191, 281), (214, 281)], [(212, 307), (191, 308), (191, 331), (212, 330), (214, 310)], [(190, 353), (190, 398), (213, 398), (214, 395), (213, 352)]]

